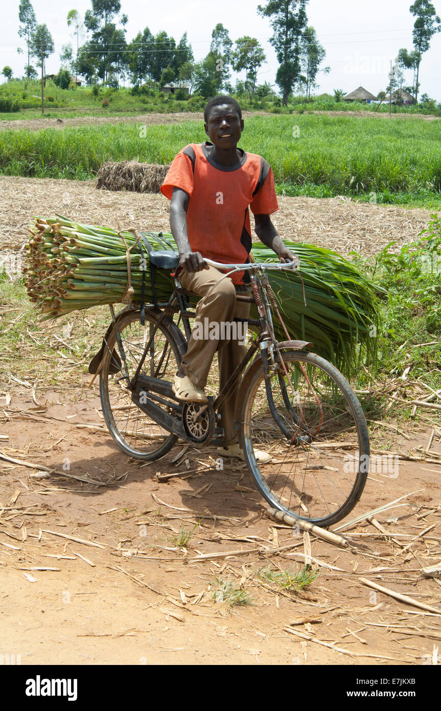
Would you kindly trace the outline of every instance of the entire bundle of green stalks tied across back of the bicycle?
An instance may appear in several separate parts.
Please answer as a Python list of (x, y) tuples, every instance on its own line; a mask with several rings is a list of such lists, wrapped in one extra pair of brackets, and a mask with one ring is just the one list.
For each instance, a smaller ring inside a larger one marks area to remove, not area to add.
[[(148, 255), (136, 245), (134, 232), (115, 232), (107, 227), (79, 225), (62, 218), (36, 218), (27, 245), (26, 288), (43, 320), (55, 319), (77, 309), (141, 301), (145, 267), (144, 301), (153, 302)], [(153, 249), (163, 249), (157, 232), (148, 235)], [(163, 235), (177, 250), (173, 235)], [(124, 240), (126, 244), (124, 243)], [(374, 287), (351, 262), (336, 252), (313, 245), (285, 242), (300, 257), (300, 275), (295, 272), (267, 272), (279, 310), (292, 338), (314, 343), (314, 350), (344, 373), (351, 373), (361, 354), (373, 360), (379, 330), (379, 300)], [(128, 295), (127, 247), (131, 248), (130, 277), (133, 294)], [(256, 262), (275, 261), (276, 255), (261, 242), (253, 245)], [(156, 270), (156, 298), (168, 301), (173, 290), (169, 272)], [(196, 303), (197, 299), (192, 300)], [(256, 318), (251, 309), (251, 318)], [(286, 336), (277, 317), (276, 335)]]

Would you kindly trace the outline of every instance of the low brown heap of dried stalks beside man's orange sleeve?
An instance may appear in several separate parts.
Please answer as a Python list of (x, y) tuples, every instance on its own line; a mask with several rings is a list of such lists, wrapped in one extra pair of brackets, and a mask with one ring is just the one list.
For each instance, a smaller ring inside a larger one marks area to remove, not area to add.
[(134, 193), (159, 193), (160, 186), (168, 173), (170, 165), (156, 163), (104, 163), (97, 176), (98, 189), (129, 190)]

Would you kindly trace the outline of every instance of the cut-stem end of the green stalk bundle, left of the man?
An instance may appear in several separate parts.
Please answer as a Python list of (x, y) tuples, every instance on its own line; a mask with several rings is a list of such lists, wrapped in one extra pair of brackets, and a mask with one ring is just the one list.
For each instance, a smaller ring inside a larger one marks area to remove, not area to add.
[[(29, 230), (32, 237), (26, 245), (29, 264), (26, 289), (43, 314), (43, 321), (89, 306), (115, 304), (123, 299), (128, 303), (140, 301), (143, 269), (144, 301), (153, 301), (148, 255), (144, 246), (141, 254), (134, 232), (118, 233), (108, 227), (79, 225), (60, 215), (47, 220), (36, 218)], [(146, 235), (153, 249), (163, 249), (156, 233), (146, 232)], [(126, 245), (130, 250), (130, 282), (134, 289), (131, 298), (127, 290)], [(158, 270), (158, 302), (168, 301), (172, 291), (170, 274)]]

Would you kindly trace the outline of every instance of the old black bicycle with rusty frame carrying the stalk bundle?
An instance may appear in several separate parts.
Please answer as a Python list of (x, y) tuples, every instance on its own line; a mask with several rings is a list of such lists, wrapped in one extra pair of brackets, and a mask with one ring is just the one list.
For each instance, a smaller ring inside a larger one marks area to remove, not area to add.
[[(179, 401), (172, 391), (191, 335), (189, 319), (195, 317), (188, 310), (190, 294), (179, 282), (179, 257), (163, 250), (151, 252), (149, 259), (153, 272), (175, 270), (170, 299), (127, 306), (117, 316), (111, 306), (112, 323), (103, 341), (99, 391), (104, 419), (118, 447), (134, 459), (156, 461), (178, 439), (207, 446), (219, 434), (219, 406), (244, 373), (236, 422), (258, 491), (293, 518), (324, 527), (342, 520), (366, 483), (369, 434), (347, 380), (334, 365), (306, 350), (312, 343), (291, 340), (285, 329), (266, 272), (292, 269), (293, 262), (205, 260), (218, 269), (249, 271), (252, 295), (237, 298), (255, 304), (258, 319), (235, 319), (246, 320), (255, 337), (222, 392), (200, 404)], [(281, 320), (286, 341), (277, 341), (271, 311)], [(259, 464), (254, 449), (264, 449), (271, 461)]]

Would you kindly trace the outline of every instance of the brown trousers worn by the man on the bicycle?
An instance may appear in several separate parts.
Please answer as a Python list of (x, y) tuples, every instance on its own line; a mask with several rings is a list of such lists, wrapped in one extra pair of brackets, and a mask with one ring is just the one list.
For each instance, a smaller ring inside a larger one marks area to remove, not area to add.
[[(183, 272), (180, 282), (188, 291), (204, 297), (221, 277), (222, 272), (219, 272), (214, 267), (209, 267), (194, 274)], [(209, 338), (194, 338), (194, 334), (197, 333), (197, 324), (200, 324), (199, 333), (202, 330), (204, 336), (207, 336), (207, 328), (204, 330), (204, 326), (207, 323), (211, 326), (212, 324), (220, 324), (222, 321), (231, 323), (234, 317), (247, 319), (250, 305), (246, 301), (236, 301), (236, 294), (246, 295), (249, 292), (250, 288), (248, 286), (235, 287), (232, 280), (227, 277), (222, 279), (219, 284), (216, 284), (206, 299), (201, 299), (198, 302), (195, 325), (193, 326), (192, 336), (182, 364), (185, 375), (197, 387), (205, 387), (207, 385), (209, 368), (212, 365), (216, 351), (219, 351), (219, 390), (222, 390), (222, 387), (227, 383), (227, 380), (246, 353), (246, 347), (241, 346), (238, 339), (229, 338), (229, 340), (222, 341), (220, 338), (212, 338), (211, 334)], [(219, 333), (219, 335), (221, 334)], [(229, 397), (220, 408), (225, 445), (233, 444), (237, 441), (237, 434), (234, 429), (234, 412), (236, 410), (239, 385), (240, 380), (230, 390)]]

